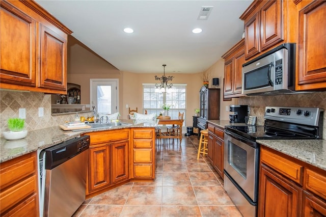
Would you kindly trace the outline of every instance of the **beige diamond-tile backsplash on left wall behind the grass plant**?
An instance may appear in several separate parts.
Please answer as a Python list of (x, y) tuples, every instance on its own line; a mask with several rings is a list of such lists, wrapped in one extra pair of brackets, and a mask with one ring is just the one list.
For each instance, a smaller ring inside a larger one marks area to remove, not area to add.
[[(44, 108), (43, 117), (38, 116), (39, 107)], [(75, 114), (51, 115), (51, 94), (1, 90), (0, 132), (8, 131), (7, 120), (18, 118), (19, 108), (26, 109), (25, 129), (28, 131), (58, 126), (75, 118)]]

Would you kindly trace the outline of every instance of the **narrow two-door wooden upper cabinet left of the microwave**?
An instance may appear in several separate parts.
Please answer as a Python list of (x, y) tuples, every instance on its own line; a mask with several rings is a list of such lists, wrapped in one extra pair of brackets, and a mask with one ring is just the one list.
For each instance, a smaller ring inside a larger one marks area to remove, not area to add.
[(242, 64), (244, 63), (244, 39), (227, 51), (224, 63), (224, 97), (242, 96)]

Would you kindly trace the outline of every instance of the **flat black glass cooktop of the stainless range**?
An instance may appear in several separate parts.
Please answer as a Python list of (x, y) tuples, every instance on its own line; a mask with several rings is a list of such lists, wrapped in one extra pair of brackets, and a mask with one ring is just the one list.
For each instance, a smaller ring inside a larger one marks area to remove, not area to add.
[(295, 140), (295, 139), (314, 139), (311, 134), (303, 134), (291, 131), (285, 131), (268, 126), (225, 126), (226, 131), (233, 132), (248, 139), (254, 140)]

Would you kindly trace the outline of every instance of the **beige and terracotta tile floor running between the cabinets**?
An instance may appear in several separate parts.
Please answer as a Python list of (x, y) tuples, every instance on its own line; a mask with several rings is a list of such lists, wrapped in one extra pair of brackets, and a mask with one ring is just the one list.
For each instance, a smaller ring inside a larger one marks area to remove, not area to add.
[(73, 216), (241, 216), (197, 136), (156, 144), (154, 182), (131, 182), (86, 200)]

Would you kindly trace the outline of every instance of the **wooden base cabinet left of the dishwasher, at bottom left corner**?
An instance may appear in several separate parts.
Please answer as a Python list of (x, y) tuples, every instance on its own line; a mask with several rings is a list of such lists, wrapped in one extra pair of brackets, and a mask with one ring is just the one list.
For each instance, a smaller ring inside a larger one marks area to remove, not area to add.
[(3, 162), (0, 186), (1, 216), (39, 216), (36, 152)]

